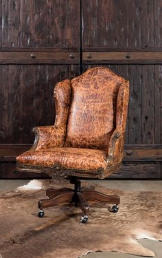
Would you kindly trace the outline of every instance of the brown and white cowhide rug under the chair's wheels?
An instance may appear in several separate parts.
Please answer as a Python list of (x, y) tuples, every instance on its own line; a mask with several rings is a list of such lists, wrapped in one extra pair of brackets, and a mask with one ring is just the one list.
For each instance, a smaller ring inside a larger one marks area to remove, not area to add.
[(110, 213), (107, 204), (92, 204), (88, 224), (81, 224), (80, 209), (70, 205), (46, 208), (45, 217), (38, 218), (37, 202), (45, 197), (45, 189), (65, 183), (33, 182), (38, 182), (35, 190), (30, 183), (0, 196), (2, 258), (77, 258), (97, 250), (152, 257), (137, 239), (162, 241), (162, 193), (111, 191), (98, 184), (97, 191), (120, 195), (119, 212)]

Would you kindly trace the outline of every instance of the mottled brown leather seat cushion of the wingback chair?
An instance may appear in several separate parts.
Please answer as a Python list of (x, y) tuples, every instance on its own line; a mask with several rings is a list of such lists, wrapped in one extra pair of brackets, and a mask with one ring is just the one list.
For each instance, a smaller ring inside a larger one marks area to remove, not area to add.
[(98, 170), (106, 169), (106, 153), (96, 149), (54, 148), (26, 151), (16, 159), (19, 164), (30, 166), (55, 166), (60, 164), (67, 169)]

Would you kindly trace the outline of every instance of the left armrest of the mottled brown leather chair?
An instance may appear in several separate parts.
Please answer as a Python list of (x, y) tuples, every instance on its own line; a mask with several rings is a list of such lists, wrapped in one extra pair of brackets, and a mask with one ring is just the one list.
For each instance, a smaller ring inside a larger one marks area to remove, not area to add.
[(62, 147), (65, 142), (65, 129), (57, 126), (34, 127), (35, 140), (32, 150)]

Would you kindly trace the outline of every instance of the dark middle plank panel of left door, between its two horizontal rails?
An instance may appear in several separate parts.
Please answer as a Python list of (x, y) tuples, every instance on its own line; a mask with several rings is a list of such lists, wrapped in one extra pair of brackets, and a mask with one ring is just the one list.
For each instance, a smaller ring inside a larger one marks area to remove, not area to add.
[(54, 125), (54, 86), (79, 65), (2, 65), (1, 143), (32, 143), (32, 128)]

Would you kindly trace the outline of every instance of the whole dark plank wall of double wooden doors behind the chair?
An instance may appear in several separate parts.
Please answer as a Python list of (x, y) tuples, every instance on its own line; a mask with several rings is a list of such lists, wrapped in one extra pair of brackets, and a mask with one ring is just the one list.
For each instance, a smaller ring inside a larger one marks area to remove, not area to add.
[(56, 82), (96, 65), (130, 80), (124, 165), (112, 178), (161, 178), (162, 0), (0, 6), (0, 178), (18, 176), (32, 127), (54, 124)]

